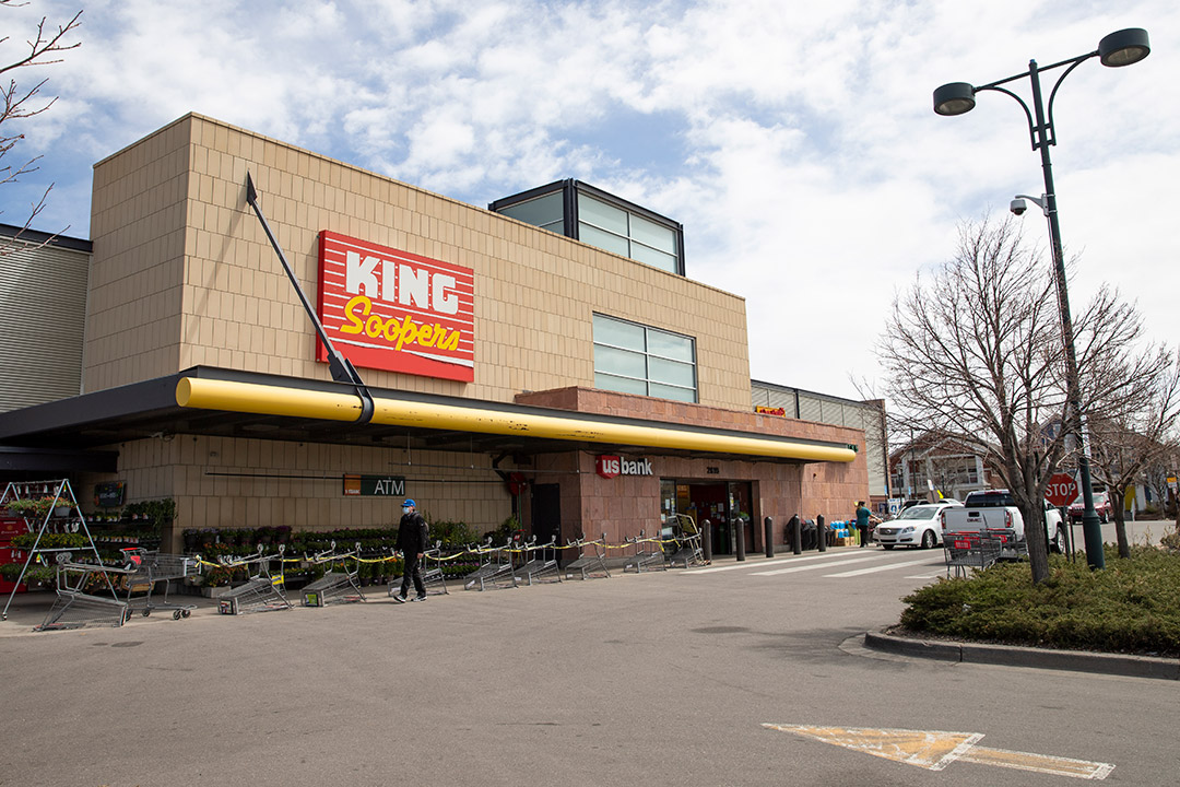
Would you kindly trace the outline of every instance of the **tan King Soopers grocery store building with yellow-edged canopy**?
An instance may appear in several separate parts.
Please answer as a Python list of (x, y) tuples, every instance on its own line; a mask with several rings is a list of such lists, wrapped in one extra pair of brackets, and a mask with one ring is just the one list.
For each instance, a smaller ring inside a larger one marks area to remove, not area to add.
[(864, 428), (755, 412), (746, 303), (682, 228), (576, 181), (477, 208), (189, 114), (94, 166), (88, 244), (9, 245), (0, 480), (171, 497), (173, 545), (408, 496), (542, 540), (688, 513), (725, 553), (868, 499)]

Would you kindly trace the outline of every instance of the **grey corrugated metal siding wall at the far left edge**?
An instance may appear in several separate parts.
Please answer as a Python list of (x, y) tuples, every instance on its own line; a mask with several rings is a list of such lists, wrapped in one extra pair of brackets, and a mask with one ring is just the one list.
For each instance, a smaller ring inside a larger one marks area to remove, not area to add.
[(8, 253), (0, 257), (0, 412), (76, 396), (90, 255), (2, 243)]

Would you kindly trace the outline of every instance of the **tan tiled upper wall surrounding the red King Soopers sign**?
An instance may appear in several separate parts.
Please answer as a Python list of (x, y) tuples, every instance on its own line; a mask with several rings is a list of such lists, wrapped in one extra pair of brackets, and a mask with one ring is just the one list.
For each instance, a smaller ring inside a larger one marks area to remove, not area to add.
[[(135, 201), (138, 212), (110, 214), (105, 225), (119, 234), (118, 243), (96, 241), (96, 260), (105, 264), (130, 253), (138, 236), (123, 237), (119, 228), (127, 222), (166, 235), (173, 262), (176, 240), (183, 238), (183, 299), (172, 297), (170, 277), (164, 309), (170, 322), (155, 340), (166, 339), (170, 347), (178, 341), (179, 352), (170, 368), (116, 366), (94, 375), (97, 386), (151, 376), (139, 368), (163, 374), (195, 365), (328, 379), (326, 365), (314, 361), (312, 326), (245, 204), (249, 170), (263, 214), (312, 302), (323, 229), (476, 271), (474, 382), (361, 369), (371, 386), (496, 401), (511, 401), (522, 391), (592, 386), (592, 314), (598, 310), (695, 336), (701, 402), (749, 407), (741, 297), (199, 116), (177, 120), (96, 172), (126, 170), (136, 173), (126, 176), (129, 184), (159, 188), (148, 173), (171, 172), (151, 169), (156, 157), (172, 153), (162, 139), (191, 144), (188, 178), (169, 181), (173, 191), (179, 186), (183, 216)], [(168, 158), (172, 166), (182, 160), (183, 155)], [(149, 169), (136, 166), (139, 162)], [(109, 206), (114, 196), (96, 185), (96, 216), (114, 210)], [(116, 299), (111, 308), (126, 306)]]

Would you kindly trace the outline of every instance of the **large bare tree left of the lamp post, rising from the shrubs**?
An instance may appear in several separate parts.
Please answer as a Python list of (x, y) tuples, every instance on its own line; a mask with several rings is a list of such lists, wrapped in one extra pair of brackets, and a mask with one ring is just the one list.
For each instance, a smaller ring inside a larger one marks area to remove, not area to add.
[[(1080, 380), (1139, 337), (1134, 309), (1103, 289), (1075, 315)], [(1067, 386), (1053, 269), (1010, 218), (965, 225), (955, 257), (893, 303), (879, 345), (893, 414), (914, 431), (970, 435), (1024, 517), (1032, 581), (1048, 576), (1042, 500), (1069, 446)], [(1082, 386), (1114, 401), (1138, 378)]]

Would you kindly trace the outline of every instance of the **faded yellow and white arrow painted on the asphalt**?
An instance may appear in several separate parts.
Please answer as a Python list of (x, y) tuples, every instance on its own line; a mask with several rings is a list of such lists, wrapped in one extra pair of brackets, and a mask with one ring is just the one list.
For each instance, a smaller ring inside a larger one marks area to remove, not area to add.
[(825, 743), (843, 746), (846, 749), (864, 752), (896, 762), (905, 762), (927, 770), (942, 770), (956, 761), (1074, 776), (1075, 779), (1102, 780), (1114, 770), (1114, 766), (1106, 762), (1088, 762), (976, 746), (983, 739), (982, 733), (812, 727), (807, 724), (762, 724), (762, 727), (784, 733), (795, 733)]

